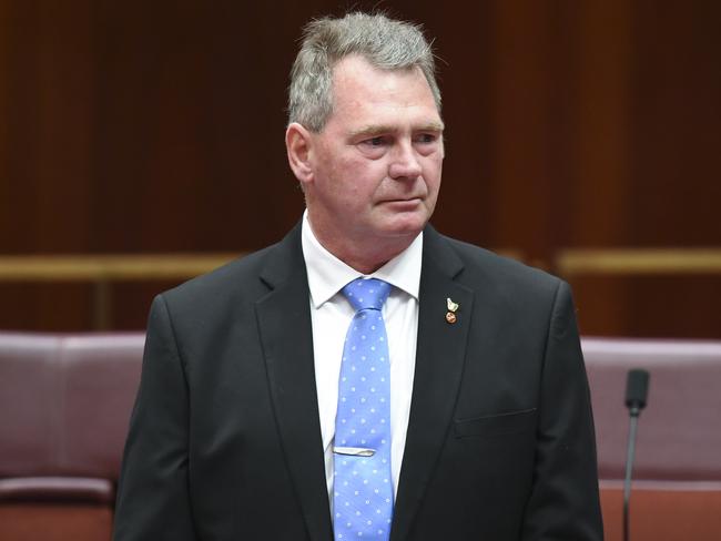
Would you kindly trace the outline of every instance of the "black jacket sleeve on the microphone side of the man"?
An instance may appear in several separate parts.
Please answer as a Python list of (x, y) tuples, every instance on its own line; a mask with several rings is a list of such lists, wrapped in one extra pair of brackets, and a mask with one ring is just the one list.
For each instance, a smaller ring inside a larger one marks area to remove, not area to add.
[(600, 541), (590, 394), (569, 286), (556, 293), (544, 356), (535, 479), (525, 541)]

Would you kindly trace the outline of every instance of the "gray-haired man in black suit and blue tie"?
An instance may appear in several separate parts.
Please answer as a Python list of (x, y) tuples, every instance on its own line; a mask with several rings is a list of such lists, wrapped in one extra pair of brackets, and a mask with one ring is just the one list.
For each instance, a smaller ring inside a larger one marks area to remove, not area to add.
[(602, 538), (569, 288), (427, 225), (443, 131), (416, 27), (308, 24), (306, 214), (154, 300), (116, 540)]

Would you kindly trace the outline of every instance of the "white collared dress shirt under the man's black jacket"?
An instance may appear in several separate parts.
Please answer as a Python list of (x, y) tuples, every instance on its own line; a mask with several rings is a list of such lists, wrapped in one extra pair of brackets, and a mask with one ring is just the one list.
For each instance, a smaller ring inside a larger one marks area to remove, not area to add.
[(345, 335), (355, 314), (341, 289), (348, 282), (360, 276), (378, 278), (393, 286), (383, 306), (383, 317), (390, 356), (390, 473), (395, 499), (406, 445), (416, 365), (423, 233), (404, 252), (370, 275), (358, 273), (321, 245), (311, 228), (307, 211), (303, 216), (302, 243), (311, 289), (315, 384), (325, 452), (325, 478), (331, 501), (333, 501), (332, 447), (338, 406), (341, 358)]

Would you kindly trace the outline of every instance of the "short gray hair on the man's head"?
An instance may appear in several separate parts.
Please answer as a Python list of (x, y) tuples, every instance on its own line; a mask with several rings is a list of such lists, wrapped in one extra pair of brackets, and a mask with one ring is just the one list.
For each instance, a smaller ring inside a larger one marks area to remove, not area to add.
[(383, 13), (348, 13), (323, 18), (303, 29), (303, 43), (291, 70), (288, 123), (319, 132), (333, 113), (333, 68), (349, 54), (359, 54), (383, 70), (418, 67), (428, 81), (440, 113), (440, 90), (430, 43), (422, 27)]

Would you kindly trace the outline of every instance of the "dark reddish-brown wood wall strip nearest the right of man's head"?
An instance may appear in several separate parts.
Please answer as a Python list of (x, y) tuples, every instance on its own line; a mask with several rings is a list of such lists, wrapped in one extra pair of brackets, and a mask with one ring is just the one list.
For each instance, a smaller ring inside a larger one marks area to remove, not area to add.
[[(525, 252), (539, 258), (548, 251), (552, 213), (548, 207), (556, 181), (552, 12), (542, 2), (519, 9), (496, 2), (496, 50), (490, 67), (494, 86), (494, 238), (514, 245), (525, 238)], [(520, 220), (519, 220), (520, 217)]]

